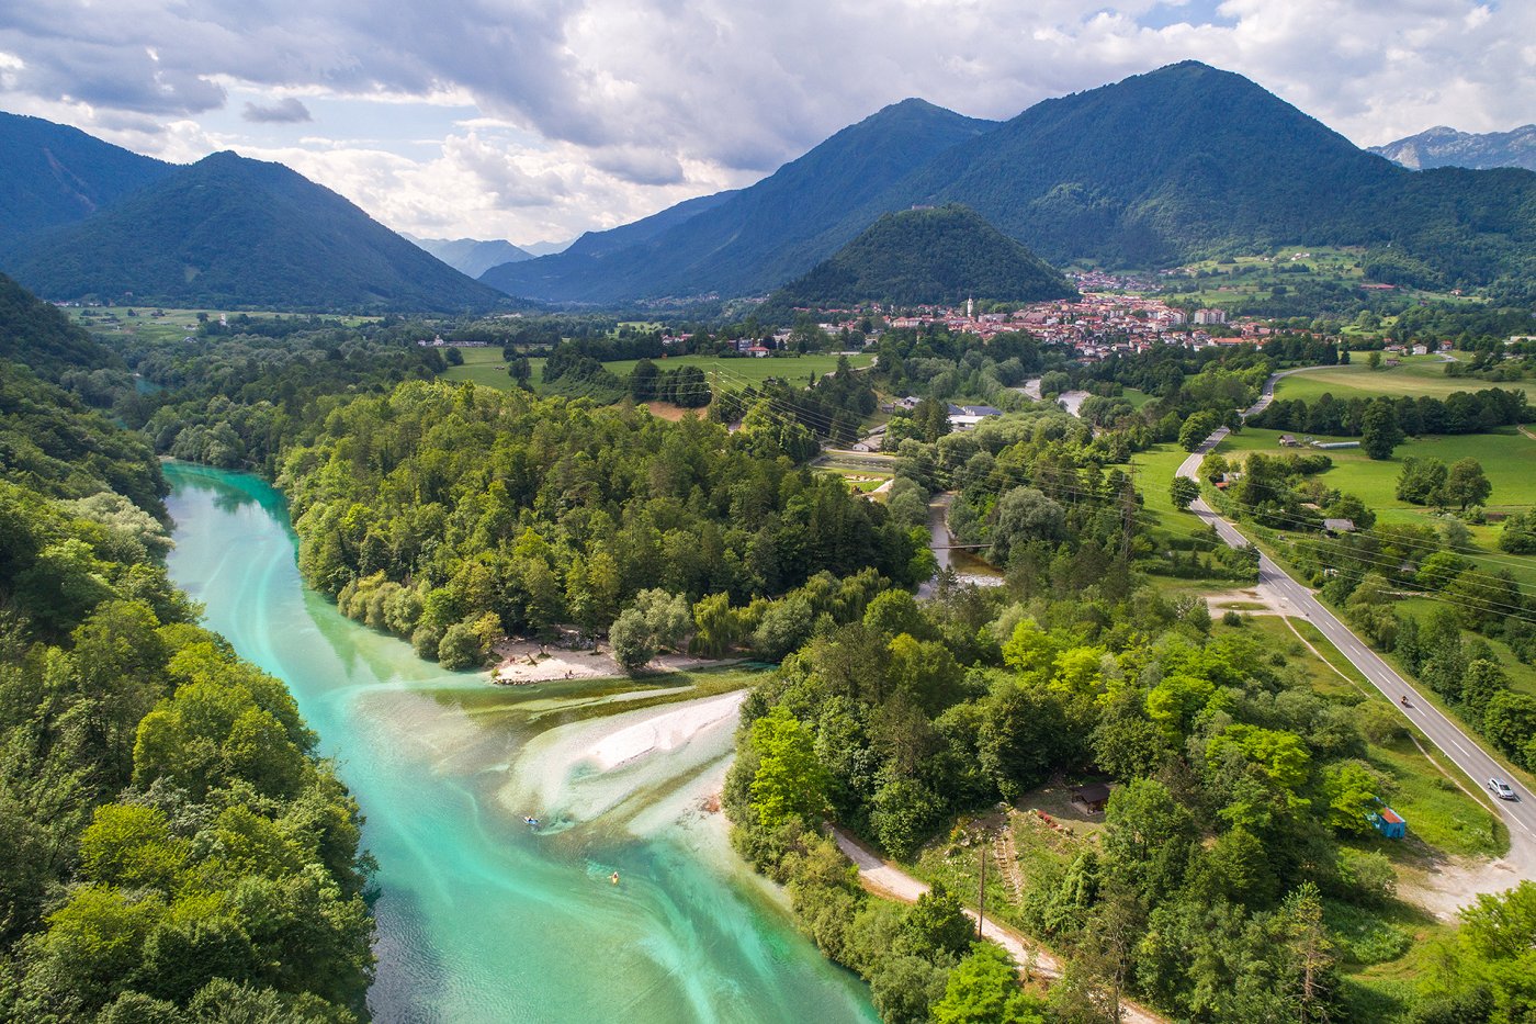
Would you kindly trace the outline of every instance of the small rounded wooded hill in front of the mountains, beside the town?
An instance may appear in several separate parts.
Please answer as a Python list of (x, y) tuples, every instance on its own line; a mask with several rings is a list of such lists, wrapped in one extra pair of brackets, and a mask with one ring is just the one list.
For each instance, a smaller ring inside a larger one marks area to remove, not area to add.
[(809, 274), (779, 289), (770, 303), (914, 306), (958, 304), (971, 297), (1029, 303), (1075, 294), (1029, 249), (971, 208), (955, 204), (886, 214)]

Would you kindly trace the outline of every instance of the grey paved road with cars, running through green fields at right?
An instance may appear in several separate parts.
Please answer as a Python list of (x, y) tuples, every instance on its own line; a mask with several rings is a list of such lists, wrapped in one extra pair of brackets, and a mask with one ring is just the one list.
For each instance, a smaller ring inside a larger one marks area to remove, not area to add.
[[(1312, 367), (1303, 367), (1312, 369)], [(1243, 415), (1244, 418), (1261, 412), (1275, 397), (1275, 384), (1281, 377), (1298, 371), (1286, 371), (1272, 375), (1264, 381), (1260, 400)], [(1197, 480), (1200, 461), (1210, 449), (1221, 443), (1229, 434), (1227, 427), (1218, 429), (1195, 449), (1178, 467), (1180, 477)], [(1197, 498), (1190, 510), (1203, 521), (1217, 529), (1217, 534), (1232, 547), (1247, 544), (1238, 529), (1227, 520), (1217, 515), (1204, 498)], [(1349, 658), (1359, 672), (1370, 680), (1372, 686), (1381, 690), (1409, 721), (1418, 726), (1450, 761), (1461, 769), (1471, 784), (1479, 790), (1487, 786), (1490, 776), (1510, 781), (1510, 773), (1493, 758), (1476, 740), (1468, 736), (1461, 726), (1427, 701), (1407, 680), (1398, 675), (1392, 666), (1381, 660), (1359, 637), (1350, 630), (1333, 612), (1318, 601), (1312, 590), (1290, 578), (1290, 575), (1275, 564), (1269, 555), (1260, 554), (1258, 560), (1260, 587), (1267, 589), (1275, 604), (1287, 609), (1292, 615), (1299, 615), (1327, 637), (1327, 640)], [(1402, 706), (1401, 698), (1407, 697), (1409, 704)], [(1519, 787), (1516, 789), (1519, 792)], [(1510, 829), (1510, 853), (1507, 856), (1513, 867), (1511, 881), (1536, 879), (1536, 796), (1519, 792), (1519, 800), (1491, 801), (1498, 806), (1499, 815)], [(1412, 829), (1412, 823), (1409, 823)]]

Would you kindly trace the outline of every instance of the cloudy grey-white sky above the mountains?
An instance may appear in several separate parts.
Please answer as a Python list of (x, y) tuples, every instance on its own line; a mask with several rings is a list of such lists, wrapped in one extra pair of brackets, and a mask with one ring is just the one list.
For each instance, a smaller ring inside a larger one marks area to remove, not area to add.
[(1359, 145), (1536, 120), (1531, 0), (45, 0), (0, 109), (281, 160), (392, 228), (565, 240), (908, 95), (1005, 118), (1184, 58)]

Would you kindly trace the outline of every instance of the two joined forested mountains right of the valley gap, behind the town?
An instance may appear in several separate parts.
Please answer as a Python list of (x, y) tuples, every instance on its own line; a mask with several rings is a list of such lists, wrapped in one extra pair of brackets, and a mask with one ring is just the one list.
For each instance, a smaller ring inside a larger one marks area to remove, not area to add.
[(1046, 100), (1003, 125), (906, 100), (751, 188), (691, 203), (630, 224), (647, 226), (639, 240), (598, 232), (481, 280), (593, 304), (765, 294), (882, 214), (943, 203), (1057, 264), (1349, 244), (1393, 283), (1521, 292), (1536, 278), (1536, 175), (1404, 171), (1198, 62)]

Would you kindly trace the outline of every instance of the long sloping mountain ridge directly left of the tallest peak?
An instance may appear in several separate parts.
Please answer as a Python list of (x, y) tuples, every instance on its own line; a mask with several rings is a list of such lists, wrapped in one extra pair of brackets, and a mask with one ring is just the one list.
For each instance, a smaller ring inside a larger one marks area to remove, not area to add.
[(481, 280), (510, 295), (579, 303), (762, 294), (803, 274), (872, 220), (836, 244), (816, 243), (843, 211), (992, 128), (992, 121), (923, 100), (903, 100), (751, 188), (691, 200), (648, 218), (634, 244), (614, 249), (614, 232), (599, 232), (579, 249), (573, 244), (559, 255), (499, 266)]

